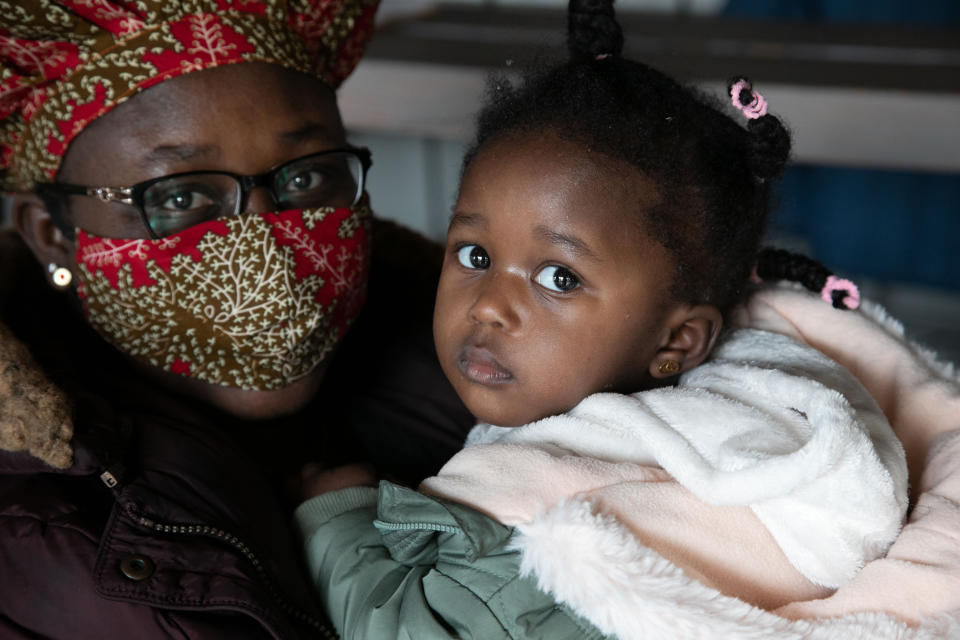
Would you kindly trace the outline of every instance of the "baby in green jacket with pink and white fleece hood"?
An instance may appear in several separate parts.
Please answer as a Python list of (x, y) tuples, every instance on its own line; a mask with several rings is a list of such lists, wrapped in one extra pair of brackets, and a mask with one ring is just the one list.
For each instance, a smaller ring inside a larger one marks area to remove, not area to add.
[(759, 252), (784, 127), (746, 79), (744, 128), (622, 41), (610, 3), (575, 0), (570, 61), (491, 88), (434, 316), (480, 424), (420, 492), (334, 470), (297, 512), (344, 637), (643, 636), (658, 606), (684, 635), (677, 593), (709, 629), (732, 598), (829, 594), (899, 531), (903, 451), (856, 379), (782, 335), (721, 336), (751, 275), (857, 303)]

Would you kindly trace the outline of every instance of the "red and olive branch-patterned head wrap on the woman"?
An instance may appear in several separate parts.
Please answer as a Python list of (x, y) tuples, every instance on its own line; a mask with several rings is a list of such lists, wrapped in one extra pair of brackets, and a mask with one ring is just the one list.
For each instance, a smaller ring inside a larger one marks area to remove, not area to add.
[(84, 127), (137, 92), (237, 62), (336, 88), (379, 0), (0, 0), (0, 189), (53, 179)]

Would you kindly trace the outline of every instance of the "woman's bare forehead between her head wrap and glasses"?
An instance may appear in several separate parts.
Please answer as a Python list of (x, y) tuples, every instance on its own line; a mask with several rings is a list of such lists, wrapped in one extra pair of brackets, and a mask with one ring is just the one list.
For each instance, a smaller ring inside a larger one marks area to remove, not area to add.
[(254, 173), (344, 144), (333, 91), (265, 63), (208, 69), (147, 89), (74, 139), (59, 179), (128, 184), (177, 171)]

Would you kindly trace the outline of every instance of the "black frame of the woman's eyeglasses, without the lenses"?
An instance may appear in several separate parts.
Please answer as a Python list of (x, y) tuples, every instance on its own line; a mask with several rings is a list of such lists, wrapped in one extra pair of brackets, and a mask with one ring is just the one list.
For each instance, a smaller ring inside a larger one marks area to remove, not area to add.
[(125, 204), (136, 208), (137, 213), (140, 214), (140, 221), (143, 223), (143, 226), (147, 229), (147, 233), (150, 234), (150, 237), (154, 240), (159, 240), (163, 236), (157, 235), (153, 230), (153, 227), (150, 226), (150, 220), (147, 216), (145, 209), (145, 203), (143, 201), (143, 195), (147, 190), (158, 182), (163, 182), (164, 180), (170, 180), (173, 178), (183, 178), (192, 175), (205, 175), (205, 174), (216, 174), (222, 176), (228, 176), (237, 181), (237, 184), (240, 185), (240, 197), (237, 199), (237, 207), (232, 215), (239, 215), (247, 205), (247, 197), (250, 195), (250, 191), (256, 187), (265, 186), (270, 189), (270, 193), (273, 196), (274, 201), (277, 201), (277, 194), (273, 192), (273, 177), (281, 171), (284, 167), (294, 164), (296, 162), (301, 162), (307, 158), (314, 158), (317, 156), (333, 155), (335, 153), (352, 153), (360, 160), (360, 180), (357, 185), (357, 195), (354, 198), (352, 205), (355, 205), (360, 201), (360, 198), (363, 197), (363, 190), (367, 183), (367, 171), (370, 170), (370, 167), (373, 166), (373, 158), (370, 153), (370, 149), (366, 147), (340, 147), (337, 149), (329, 149), (326, 151), (318, 151), (316, 153), (308, 153), (292, 160), (287, 160), (286, 162), (276, 165), (272, 169), (268, 169), (263, 173), (257, 173), (252, 175), (242, 175), (239, 173), (233, 173), (232, 171), (218, 171), (215, 169), (209, 170), (198, 170), (198, 171), (182, 171), (180, 173), (171, 173), (165, 176), (160, 176), (158, 178), (151, 178), (149, 180), (144, 180), (142, 182), (137, 182), (132, 184), (129, 187), (87, 187), (78, 184), (71, 184), (69, 182), (42, 182), (37, 184), (36, 191), (37, 195), (40, 196), (47, 204), (47, 209), (50, 212), (50, 217), (53, 219), (53, 223), (60, 229), (64, 234), (67, 235), (71, 240), (74, 236), (74, 231), (72, 227), (69, 227), (64, 220), (62, 212), (59, 210), (59, 207), (51, 207), (49, 196), (64, 196), (64, 195), (76, 195), (76, 196), (88, 196), (92, 198), (98, 198), (102, 202), (119, 202), (120, 204)]

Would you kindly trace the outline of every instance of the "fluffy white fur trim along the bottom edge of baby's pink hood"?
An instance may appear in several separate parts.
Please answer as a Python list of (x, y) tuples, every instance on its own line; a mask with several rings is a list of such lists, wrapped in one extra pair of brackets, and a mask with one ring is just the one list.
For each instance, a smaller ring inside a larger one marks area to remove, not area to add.
[(908, 625), (881, 612), (791, 620), (687, 576), (586, 500), (561, 502), (518, 527), (521, 571), (620, 640), (928, 640), (956, 638), (960, 614)]

